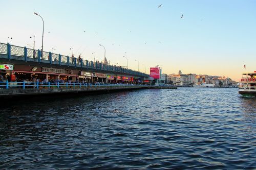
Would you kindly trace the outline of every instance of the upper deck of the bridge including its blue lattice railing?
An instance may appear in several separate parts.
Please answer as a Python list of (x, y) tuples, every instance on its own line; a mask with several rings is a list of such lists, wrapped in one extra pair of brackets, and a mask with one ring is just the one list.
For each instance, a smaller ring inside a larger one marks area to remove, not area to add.
[[(123, 75), (137, 77), (147, 80), (150, 76), (139, 71), (123, 68), (120, 66), (105, 65), (100, 62), (77, 59), (75, 57), (54, 54), (51, 52), (41, 52), (31, 48), (0, 43), (0, 64), (22, 64), (33, 65), (34, 68), (54, 67), (70, 70), (101, 72), (108, 75)], [(33, 70), (38, 72), (37, 70)]]

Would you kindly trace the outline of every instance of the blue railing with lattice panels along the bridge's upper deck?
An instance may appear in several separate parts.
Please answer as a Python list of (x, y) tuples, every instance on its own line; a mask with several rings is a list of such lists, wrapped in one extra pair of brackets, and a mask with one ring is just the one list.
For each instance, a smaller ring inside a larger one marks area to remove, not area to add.
[(97, 70), (120, 72), (124, 74), (130, 74), (130, 75), (141, 76), (141, 77), (149, 77), (149, 75), (144, 74), (142, 72), (122, 68), (120, 66), (105, 65), (100, 62), (93, 62), (93, 61), (82, 60), (82, 59), (79, 60), (75, 57), (72, 58), (72, 57), (63, 56), (60, 54), (53, 54), (51, 52), (41, 52), (40, 50), (33, 50), (27, 47), (10, 45), (9, 43), (7, 44), (0, 43), (0, 54), (6, 54), (7, 56), (2, 56), (2, 58), (7, 58), (9, 60), (14, 59), (14, 60), (24, 60), (24, 61), (32, 61), (32, 62), (38, 62), (38, 63), (66, 65), (66, 66), (72, 66), (72, 67), (80, 67), (84, 69), (97, 69)]

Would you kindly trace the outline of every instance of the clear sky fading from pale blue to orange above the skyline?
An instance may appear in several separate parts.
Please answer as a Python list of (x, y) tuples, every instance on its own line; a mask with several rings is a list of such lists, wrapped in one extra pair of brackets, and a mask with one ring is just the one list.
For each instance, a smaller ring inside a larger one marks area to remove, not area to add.
[[(161, 5), (162, 4), (162, 5)], [(161, 5), (161, 6), (160, 6)], [(225, 76), (256, 70), (254, 0), (0, 0), (0, 42), (150, 73)], [(158, 7), (160, 6), (160, 7)], [(180, 18), (183, 14), (183, 18)], [(85, 32), (84, 32), (85, 31)], [(70, 50), (71, 48), (71, 50)], [(125, 56), (127, 58), (124, 58)]]

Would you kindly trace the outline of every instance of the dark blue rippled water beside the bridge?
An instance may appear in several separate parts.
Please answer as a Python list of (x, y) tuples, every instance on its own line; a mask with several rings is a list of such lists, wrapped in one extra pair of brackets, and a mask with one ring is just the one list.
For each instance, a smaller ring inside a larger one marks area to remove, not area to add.
[(1, 107), (0, 168), (255, 169), (256, 99), (145, 89)]

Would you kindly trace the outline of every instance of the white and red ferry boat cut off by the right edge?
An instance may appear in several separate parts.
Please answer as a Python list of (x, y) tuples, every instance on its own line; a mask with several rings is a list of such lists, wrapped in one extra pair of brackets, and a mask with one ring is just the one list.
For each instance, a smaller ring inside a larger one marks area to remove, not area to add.
[(241, 79), (243, 87), (239, 89), (238, 93), (244, 97), (255, 97), (256, 96), (256, 71), (243, 74), (246, 78)]

